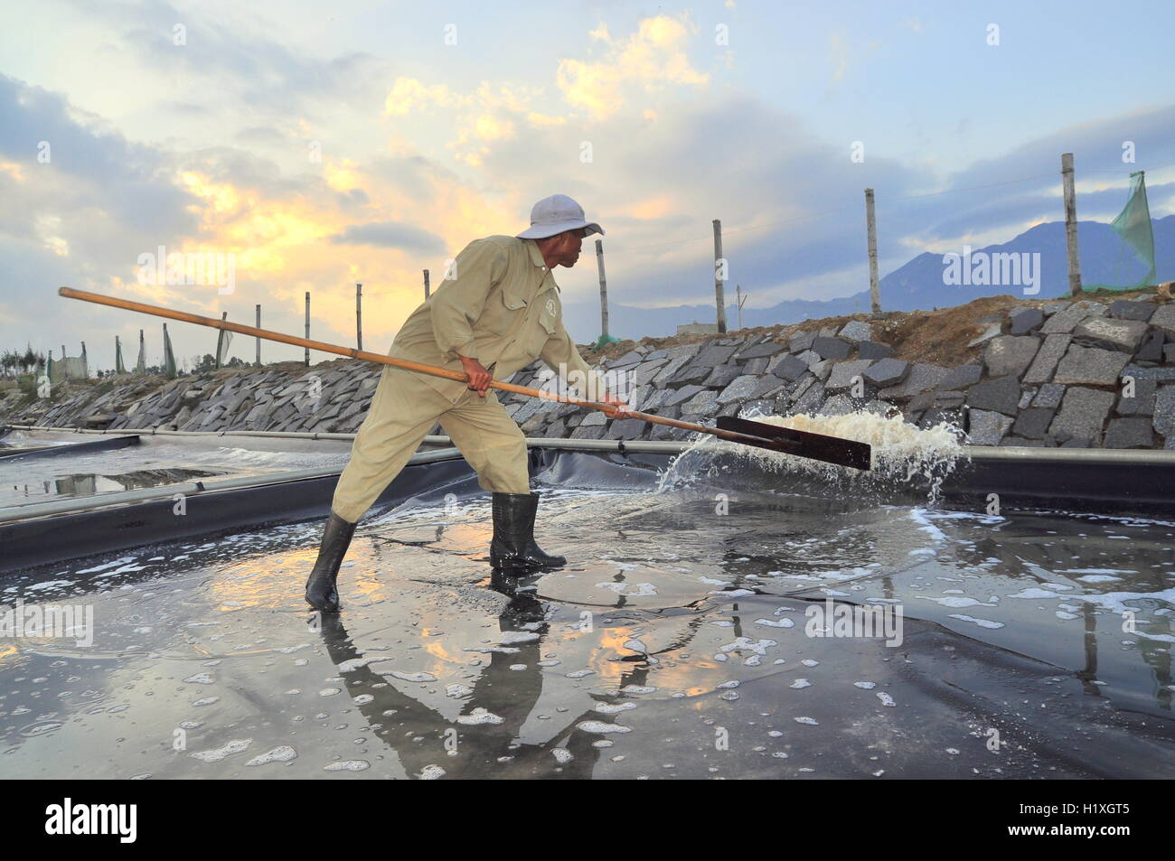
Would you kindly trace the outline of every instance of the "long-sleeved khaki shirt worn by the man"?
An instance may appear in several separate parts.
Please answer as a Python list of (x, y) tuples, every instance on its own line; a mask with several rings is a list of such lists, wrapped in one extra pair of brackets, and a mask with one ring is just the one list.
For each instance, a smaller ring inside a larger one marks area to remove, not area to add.
[[(595, 377), (596, 397), (607, 391), (563, 327), (559, 285), (535, 240), (474, 240), (457, 255), (446, 276), (404, 322), (389, 356), (463, 374), (465, 369), (457, 358), (461, 354), (481, 362), (495, 379), (505, 379), (542, 358), (556, 372), (563, 363), (569, 375), (583, 375), (578, 379)], [(452, 403), (468, 391), (464, 382), (405, 372), (419, 377)], [(572, 377), (571, 382), (578, 379)]]

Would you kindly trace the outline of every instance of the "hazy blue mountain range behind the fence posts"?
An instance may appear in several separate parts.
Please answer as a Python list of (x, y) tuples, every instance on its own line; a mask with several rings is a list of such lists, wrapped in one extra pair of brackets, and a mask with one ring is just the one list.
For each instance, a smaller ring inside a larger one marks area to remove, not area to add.
[[(1157, 281), (1175, 280), (1175, 215), (1153, 218), (1155, 233), (1155, 269)], [(1114, 229), (1100, 221), (1077, 223), (1077, 249), (1081, 255), (1081, 280), (1086, 284), (1135, 283), (1146, 275), (1144, 268), (1122, 243)], [(953, 249), (961, 254), (964, 249)], [(1065, 222), (1036, 224), (1010, 242), (973, 249), (971, 270), (979, 264), (980, 254), (1034, 255), (1030, 274), (1038, 278), (1040, 291), (1034, 298), (1066, 296), (1069, 291), (1068, 264), (1065, 250)], [(924, 251), (908, 263), (886, 275), (878, 284), (881, 308), (886, 311), (931, 310), (966, 304), (981, 296), (1002, 294), (1026, 295), (1021, 284), (946, 284), (947, 265), (941, 253)], [(988, 257), (991, 260), (991, 257)], [(1039, 260), (1039, 270), (1035, 261)], [(960, 267), (961, 268), (961, 267)], [(1021, 273), (1021, 282), (1028, 270)], [(851, 296), (827, 301), (785, 300), (771, 308), (744, 308), (743, 325), (776, 325), (804, 319), (837, 317), (868, 311), (868, 288)], [(599, 334), (599, 302), (568, 302), (564, 304), (568, 329), (579, 343), (595, 341)], [(639, 339), (646, 336), (674, 335), (678, 325), (714, 319), (713, 304), (673, 305), (671, 308), (634, 308), (609, 302), (609, 329), (620, 338)], [(726, 307), (728, 325), (736, 325), (738, 314), (733, 304)]]

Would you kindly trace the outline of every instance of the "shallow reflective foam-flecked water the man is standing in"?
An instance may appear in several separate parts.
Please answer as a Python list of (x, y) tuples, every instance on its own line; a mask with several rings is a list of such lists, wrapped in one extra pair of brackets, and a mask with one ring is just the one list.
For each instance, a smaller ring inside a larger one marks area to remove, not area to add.
[[(0, 774), (1175, 776), (1175, 524), (690, 457), (660, 492), (639, 458), (536, 473), (569, 565), (521, 584), (472, 483), (372, 511), (325, 625), (320, 524), (9, 576), (94, 637), (0, 639)], [(830, 598), (900, 608), (900, 644), (813, 635)]]

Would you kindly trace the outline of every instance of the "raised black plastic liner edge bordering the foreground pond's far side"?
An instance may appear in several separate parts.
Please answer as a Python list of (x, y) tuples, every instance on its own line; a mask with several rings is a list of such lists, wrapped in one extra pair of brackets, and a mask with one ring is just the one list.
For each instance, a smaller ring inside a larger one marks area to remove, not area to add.
[[(106, 440), (103, 440), (106, 442)], [(116, 442), (116, 440), (109, 440)], [(83, 444), (86, 445), (86, 444)], [(530, 471), (540, 485), (630, 489), (631, 470), (664, 470), (670, 452), (576, 451), (532, 448)], [(260, 526), (324, 518), (338, 473), (187, 497), (187, 513), (170, 498), (0, 524), (0, 573), (108, 551), (195, 536), (212, 537)], [(482, 492), (471, 468), (451, 459), (409, 464), (378, 497), (371, 512), (457, 487)], [(1081, 463), (1056, 458), (975, 457), (942, 484), (942, 507), (981, 511), (998, 493), (1005, 511), (1067, 510), (1089, 513), (1175, 514), (1175, 458), (1130, 462), (1113, 456)]]

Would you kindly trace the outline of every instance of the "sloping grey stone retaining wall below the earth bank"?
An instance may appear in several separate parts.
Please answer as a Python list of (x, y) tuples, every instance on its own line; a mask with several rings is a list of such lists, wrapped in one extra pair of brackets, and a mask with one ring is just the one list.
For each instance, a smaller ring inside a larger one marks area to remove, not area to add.
[[(980, 348), (981, 357), (955, 368), (894, 358), (867, 318), (811, 331), (732, 332), (665, 349), (638, 345), (599, 368), (629, 384), (634, 409), (704, 424), (757, 412), (900, 411), (922, 428), (954, 424), (976, 445), (1175, 449), (1175, 303), (1059, 301), (978, 322), (986, 330), (968, 345)], [(9, 393), (0, 399), (0, 416), (58, 426), (351, 432), (380, 372), (350, 359), (309, 369), (290, 363), (183, 377), (147, 392), (147, 382), (125, 377), (106, 391), (21, 409)], [(548, 375), (536, 362), (509, 382), (550, 386)], [(689, 436), (640, 419), (498, 396), (528, 436)]]

